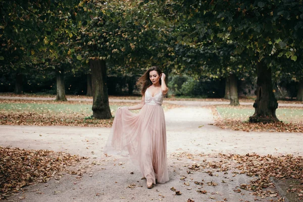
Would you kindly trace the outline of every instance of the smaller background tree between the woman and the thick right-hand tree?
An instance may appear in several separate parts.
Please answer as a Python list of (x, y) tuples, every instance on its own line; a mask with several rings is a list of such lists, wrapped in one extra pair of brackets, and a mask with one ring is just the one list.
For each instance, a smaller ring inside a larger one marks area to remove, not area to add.
[[(182, 27), (182, 25), (181, 25)], [(177, 30), (180, 30), (178, 27)], [(206, 38), (175, 47), (175, 66), (188, 75), (226, 78), (226, 91), (230, 105), (239, 105), (237, 81), (254, 76), (247, 53), (235, 54), (237, 43), (230, 40), (213, 41)], [(220, 45), (218, 43), (220, 42)], [(187, 43), (187, 42), (185, 42)], [(231, 82), (229, 82), (231, 81)]]

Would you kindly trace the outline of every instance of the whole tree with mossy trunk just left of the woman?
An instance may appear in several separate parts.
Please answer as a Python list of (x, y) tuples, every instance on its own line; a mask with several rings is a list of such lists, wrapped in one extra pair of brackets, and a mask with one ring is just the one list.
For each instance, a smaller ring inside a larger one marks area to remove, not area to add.
[(95, 1), (90, 15), (92, 20), (83, 24), (75, 51), (91, 69), (93, 117), (109, 119), (107, 67), (126, 75), (144, 71), (154, 61), (160, 63), (159, 58), (165, 57), (161, 42), (166, 30), (147, 26), (148, 14), (137, 8), (137, 2)]

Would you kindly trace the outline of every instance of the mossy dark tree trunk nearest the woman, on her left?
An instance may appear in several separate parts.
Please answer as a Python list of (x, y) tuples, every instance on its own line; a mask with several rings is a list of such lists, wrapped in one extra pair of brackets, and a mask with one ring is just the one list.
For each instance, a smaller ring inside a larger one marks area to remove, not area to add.
[(112, 118), (107, 88), (106, 62), (99, 59), (89, 60), (92, 83), (92, 117), (96, 119)]

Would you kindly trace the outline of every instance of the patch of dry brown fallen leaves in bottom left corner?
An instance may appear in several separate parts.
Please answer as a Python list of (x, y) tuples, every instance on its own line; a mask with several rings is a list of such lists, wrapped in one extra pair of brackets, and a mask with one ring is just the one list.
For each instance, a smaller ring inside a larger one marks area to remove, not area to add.
[(79, 156), (51, 150), (0, 146), (0, 192), (9, 194), (34, 182), (47, 182), (54, 174), (76, 165), (80, 159)]

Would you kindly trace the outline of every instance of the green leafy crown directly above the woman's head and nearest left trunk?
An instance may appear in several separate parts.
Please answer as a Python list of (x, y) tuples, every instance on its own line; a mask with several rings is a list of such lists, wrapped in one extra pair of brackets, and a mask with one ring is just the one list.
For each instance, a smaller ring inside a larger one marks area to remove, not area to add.
[[(109, 75), (143, 73), (147, 66), (163, 65), (168, 47), (163, 18), (154, 18), (140, 1), (95, 1), (92, 20), (79, 32), (75, 52), (83, 63), (106, 60)], [(157, 23), (156, 23), (157, 22)], [(157, 24), (158, 26), (153, 26)]]

